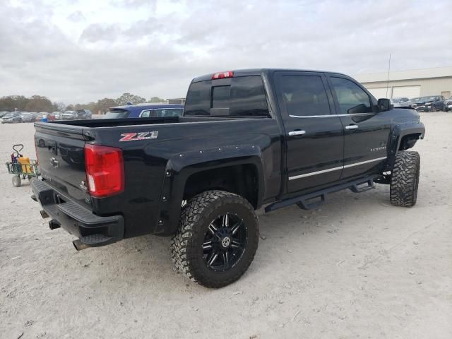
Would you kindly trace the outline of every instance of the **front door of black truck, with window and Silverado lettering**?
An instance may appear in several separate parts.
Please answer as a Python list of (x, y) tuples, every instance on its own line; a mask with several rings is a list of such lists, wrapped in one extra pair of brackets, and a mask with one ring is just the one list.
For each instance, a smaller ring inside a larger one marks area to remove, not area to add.
[(342, 179), (373, 172), (386, 160), (392, 112), (376, 114), (376, 102), (352, 79), (329, 75), (335, 107), (344, 126)]

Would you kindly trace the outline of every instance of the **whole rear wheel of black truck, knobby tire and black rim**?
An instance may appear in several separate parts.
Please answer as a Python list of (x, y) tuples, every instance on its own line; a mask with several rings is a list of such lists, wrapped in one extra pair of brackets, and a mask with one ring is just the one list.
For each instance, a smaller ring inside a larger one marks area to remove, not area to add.
[(182, 210), (172, 239), (172, 260), (186, 278), (205, 287), (223, 287), (248, 269), (258, 239), (256, 213), (245, 198), (205, 191)]

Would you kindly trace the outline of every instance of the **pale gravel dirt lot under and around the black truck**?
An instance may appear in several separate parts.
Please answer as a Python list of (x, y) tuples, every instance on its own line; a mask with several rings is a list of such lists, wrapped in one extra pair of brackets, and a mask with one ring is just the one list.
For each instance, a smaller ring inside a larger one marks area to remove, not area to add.
[[(175, 273), (168, 238), (76, 252), (1, 169), (0, 337), (452, 338), (452, 114), (422, 121), (414, 208), (380, 185), (259, 213), (254, 263), (221, 290)], [(34, 155), (32, 135), (0, 125), (0, 158), (13, 143)]]

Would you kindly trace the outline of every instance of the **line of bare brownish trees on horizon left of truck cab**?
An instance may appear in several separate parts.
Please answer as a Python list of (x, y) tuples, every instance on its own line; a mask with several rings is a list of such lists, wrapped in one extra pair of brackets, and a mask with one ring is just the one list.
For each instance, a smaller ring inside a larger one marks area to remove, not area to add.
[(143, 102), (165, 102), (165, 99), (160, 97), (151, 97), (150, 100), (145, 100), (144, 97), (133, 95), (131, 93), (124, 93), (117, 99), (104, 97), (97, 100), (97, 102), (88, 102), (86, 104), (71, 104), (66, 105), (64, 102), (52, 102), (49, 98), (42, 95), (32, 95), (25, 97), (23, 95), (8, 95), (0, 97), (0, 112), (8, 111), (25, 111), (25, 112), (55, 112), (71, 109), (90, 109), (93, 114), (105, 113), (109, 107), (128, 105), (128, 103), (141, 104)]

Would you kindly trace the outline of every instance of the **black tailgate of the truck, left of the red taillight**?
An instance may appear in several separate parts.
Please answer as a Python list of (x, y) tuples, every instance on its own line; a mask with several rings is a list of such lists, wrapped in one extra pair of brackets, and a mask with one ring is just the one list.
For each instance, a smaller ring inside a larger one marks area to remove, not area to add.
[(35, 124), (35, 145), (42, 178), (90, 208), (86, 189), (85, 137), (83, 127), (64, 124)]

